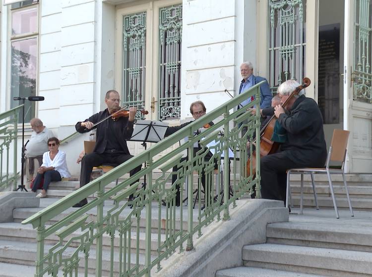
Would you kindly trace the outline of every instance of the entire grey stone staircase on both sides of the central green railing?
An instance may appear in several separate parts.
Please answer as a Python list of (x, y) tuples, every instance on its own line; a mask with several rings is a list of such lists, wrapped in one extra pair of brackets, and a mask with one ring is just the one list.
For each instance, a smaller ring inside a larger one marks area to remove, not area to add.
[[(125, 176), (124, 176), (125, 178)], [(196, 182), (197, 176), (194, 176)], [(293, 176), (291, 178), (291, 187), (293, 202), (299, 204), (300, 178)], [(310, 177), (305, 178), (305, 207), (314, 207), (312, 196), (312, 186)], [(356, 212), (355, 219), (344, 221), (345, 217), (350, 217), (349, 211), (343, 211), (342, 208), (348, 208), (346, 196), (340, 176), (335, 176), (334, 190), (336, 192), (337, 204), (341, 208), (340, 220), (334, 218), (333, 204), (330, 198), (329, 186), (325, 176), (315, 176), (316, 190), (319, 199), (320, 211), (314, 209), (305, 210), (304, 215), (291, 215), (290, 223), (269, 224), (267, 226), (267, 243), (258, 245), (248, 245), (243, 248), (243, 264), (230, 270), (219, 271), (217, 277), (261, 277), (261, 276), (372, 276), (372, 216), (366, 220), (360, 220), (362, 214), (366, 212)], [(349, 192), (352, 205), (355, 210), (372, 209), (372, 175), (347, 175)], [(48, 190), (48, 197), (40, 199), (39, 208), (19, 208), (13, 210), (14, 222), (0, 224), (0, 277), (28, 277), (35, 273), (36, 256), (36, 231), (29, 225), (21, 225), (21, 222), (29, 216), (35, 214), (41, 209), (51, 205), (59, 198), (71, 193), (78, 186), (79, 182), (62, 181), (52, 183)], [(113, 187), (115, 182), (108, 185), (107, 189)], [(171, 185), (171, 184), (167, 184)], [(95, 195), (91, 196), (93, 199)], [(113, 201), (105, 201), (105, 210), (113, 207)], [(183, 207), (186, 210), (186, 206)], [(326, 209), (329, 208), (329, 209)], [(60, 214), (47, 224), (51, 225), (74, 211), (70, 208), (65, 213)], [(125, 210), (125, 209), (124, 209)], [(154, 211), (157, 206), (154, 203)], [(296, 211), (296, 210), (294, 210)], [(306, 218), (310, 213), (312, 218)], [(124, 211), (124, 215), (130, 210)], [(322, 218), (324, 213), (328, 217)], [(96, 211), (88, 212), (90, 217), (95, 217)], [(158, 224), (157, 212), (153, 212), (152, 225), (155, 230)], [(194, 219), (197, 218), (197, 210), (194, 210)], [(363, 218), (363, 217), (362, 217)], [(196, 222), (195, 222), (196, 223)], [(178, 220), (178, 228), (183, 224), (187, 228), (186, 221), (183, 223)], [(139, 261), (143, 264), (145, 219), (141, 217), (139, 221)], [(362, 228), (361, 228), (362, 227)], [(368, 227), (368, 228), (367, 228)], [(79, 234), (78, 231), (75, 234)], [(163, 235), (163, 234), (162, 234)], [(136, 240), (135, 230), (132, 230), (132, 245)], [(152, 235), (151, 250), (152, 255), (157, 255), (157, 234)], [(46, 249), (58, 241), (58, 237), (51, 237), (46, 241)], [(104, 275), (109, 275), (110, 263), (110, 237), (104, 238)], [(115, 238), (115, 251), (119, 245), (117, 236)], [(92, 249), (94, 249), (94, 245)], [(73, 251), (74, 245), (68, 251)], [(133, 250), (134, 251), (134, 250)], [(89, 256), (88, 267), (89, 277), (94, 276), (95, 256), (94, 251)], [(133, 253), (134, 255), (134, 253)], [(135, 260), (134, 257), (132, 259)], [(117, 270), (117, 264), (114, 264)], [(79, 273), (78, 276), (83, 276)]]

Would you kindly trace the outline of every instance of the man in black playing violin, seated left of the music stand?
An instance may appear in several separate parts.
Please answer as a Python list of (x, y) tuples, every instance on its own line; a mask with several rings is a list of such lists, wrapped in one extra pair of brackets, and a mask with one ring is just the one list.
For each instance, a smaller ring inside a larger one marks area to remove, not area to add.
[[(96, 145), (93, 152), (85, 155), (81, 160), (80, 187), (89, 183), (93, 167), (107, 163), (122, 164), (133, 157), (129, 154), (126, 139), (130, 139), (132, 136), (134, 116), (137, 108), (130, 107), (124, 116), (111, 117), (110, 115), (117, 115), (118, 113), (116, 112), (120, 109), (120, 95), (119, 92), (114, 90), (106, 93), (105, 103), (107, 106), (105, 110), (75, 125), (76, 131), (79, 133), (87, 133), (97, 129)], [(97, 124), (98, 122), (101, 123)], [(131, 170), (130, 176), (140, 170), (141, 166)], [(129, 201), (132, 199), (133, 195), (129, 197)], [(73, 207), (82, 207), (87, 203), (87, 199), (83, 199)]]

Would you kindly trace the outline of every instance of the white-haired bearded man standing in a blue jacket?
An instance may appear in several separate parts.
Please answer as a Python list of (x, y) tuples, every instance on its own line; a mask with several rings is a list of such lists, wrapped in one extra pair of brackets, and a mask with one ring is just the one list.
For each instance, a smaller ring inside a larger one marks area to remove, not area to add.
[[(253, 65), (249, 61), (245, 61), (240, 66), (240, 73), (243, 77), (242, 83), (240, 84), (239, 94), (246, 92), (250, 87), (258, 84), (261, 81), (265, 81), (260, 87), (261, 91), (261, 98), (260, 98), (260, 108), (269, 108), (271, 106), (271, 98), (272, 94), (270, 92), (269, 84), (265, 78), (260, 76), (253, 75)], [(251, 98), (247, 98), (241, 103), (240, 107), (247, 105), (251, 100)]]

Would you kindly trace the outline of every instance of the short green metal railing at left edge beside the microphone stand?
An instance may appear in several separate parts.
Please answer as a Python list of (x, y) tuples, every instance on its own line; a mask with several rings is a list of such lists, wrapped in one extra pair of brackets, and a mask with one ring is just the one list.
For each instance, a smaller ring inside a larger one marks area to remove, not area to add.
[[(22, 106), (0, 114), (0, 191), (10, 184), (17, 188), (17, 124)], [(13, 156), (13, 168), (9, 164), (10, 156)]]

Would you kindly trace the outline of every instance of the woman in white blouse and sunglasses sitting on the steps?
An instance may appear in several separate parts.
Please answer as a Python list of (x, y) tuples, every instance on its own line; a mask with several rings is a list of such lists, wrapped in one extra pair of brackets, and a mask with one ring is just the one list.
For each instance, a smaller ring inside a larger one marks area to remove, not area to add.
[(62, 178), (71, 177), (68, 172), (66, 163), (66, 154), (61, 150), (58, 150), (60, 146), (60, 140), (57, 138), (48, 139), (49, 151), (43, 154), (43, 164), (38, 169), (38, 174), (35, 177), (32, 191), (36, 192), (40, 183), (44, 177), (43, 190), (36, 197), (44, 198), (47, 196), (47, 190), (49, 184), (53, 182), (59, 182)]

